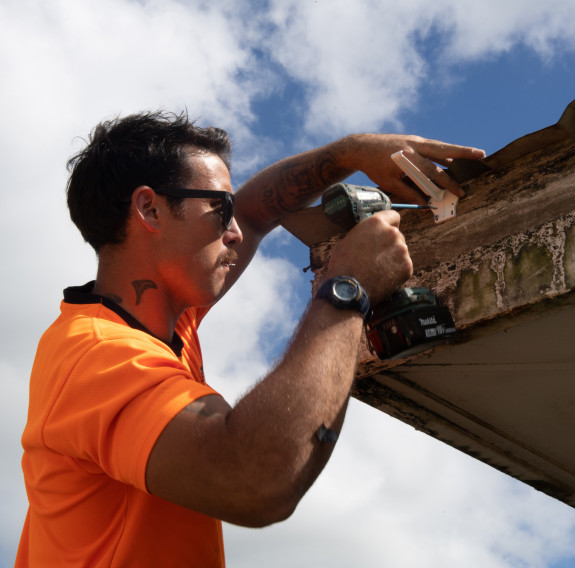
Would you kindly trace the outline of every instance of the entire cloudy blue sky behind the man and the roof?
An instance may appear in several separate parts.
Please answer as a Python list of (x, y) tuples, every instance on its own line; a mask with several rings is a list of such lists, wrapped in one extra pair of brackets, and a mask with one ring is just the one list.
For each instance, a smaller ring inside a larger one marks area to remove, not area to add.
[[(490, 154), (575, 99), (573, 21), (562, 0), (3, 0), (0, 567), (26, 511), (19, 436), (35, 346), (61, 290), (94, 276), (64, 202), (77, 137), (116, 114), (187, 107), (230, 131), (236, 184), (351, 132)], [(230, 401), (289, 338), (307, 263), (275, 231), (202, 325), (208, 380)], [(574, 509), (357, 402), (295, 515), (225, 537), (240, 568), (575, 565)]]

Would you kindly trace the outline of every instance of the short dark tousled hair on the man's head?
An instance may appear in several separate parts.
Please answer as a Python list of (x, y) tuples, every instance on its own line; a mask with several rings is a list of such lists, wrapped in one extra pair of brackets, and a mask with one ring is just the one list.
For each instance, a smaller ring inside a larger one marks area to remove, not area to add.
[[(227, 133), (194, 126), (186, 112), (146, 112), (98, 124), (67, 164), (70, 217), (84, 239), (96, 252), (121, 244), (132, 192), (140, 185), (186, 183), (193, 176), (187, 158), (194, 150), (216, 154), (230, 169)], [(170, 205), (175, 208), (177, 201)]]

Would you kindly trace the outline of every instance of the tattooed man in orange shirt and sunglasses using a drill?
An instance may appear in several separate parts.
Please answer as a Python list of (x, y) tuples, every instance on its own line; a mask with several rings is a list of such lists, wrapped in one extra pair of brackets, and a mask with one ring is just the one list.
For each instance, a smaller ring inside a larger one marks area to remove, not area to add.
[[(483, 156), (354, 135), (270, 166), (234, 201), (222, 130), (166, 113), (95, 129), (70, 161), (68, 205), (98, 273), (65, 290), (38, 347), (18, 567), (223, 566), (220, 520), (293, 512), (341, 429), (369, 302), (411, 275), (398, 214), (336, 245), (284, 358), (233, 408), (205, 383), (196, 329), (282, 216), (354, 171), (424, 203), (390, 159), (398, 150), (457, 194), (433, 162)], [(353, 294), (338, 300), (342, 282)]]

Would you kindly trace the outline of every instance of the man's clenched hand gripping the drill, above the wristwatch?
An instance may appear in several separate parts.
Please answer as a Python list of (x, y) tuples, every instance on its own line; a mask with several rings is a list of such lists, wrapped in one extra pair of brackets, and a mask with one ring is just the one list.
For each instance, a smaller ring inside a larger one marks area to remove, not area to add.
[(396, 211), (381, 211), (355, 226), (332, 252), (326, 277), (353, 276), (372, 305), (388, 298), (413, 273)]

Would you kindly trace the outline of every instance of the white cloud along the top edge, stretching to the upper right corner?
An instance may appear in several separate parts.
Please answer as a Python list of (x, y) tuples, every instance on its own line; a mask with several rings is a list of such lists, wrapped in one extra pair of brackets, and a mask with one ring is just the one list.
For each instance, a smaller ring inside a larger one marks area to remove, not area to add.
[[(569, 0), (273, 0), (271, 5), (276, 31), (266, 46), (285, 72), (303, 83), (301, 110), (315, 140), (400, 129), (401, 114), (417, 104), (429, 83), (451, 77), (451, 65), (518, 45), (544, 59), (558, 46), (575, 47), (575, 5)], [(437, 44), (435, 51), (427, 51), (426, 42)]]

